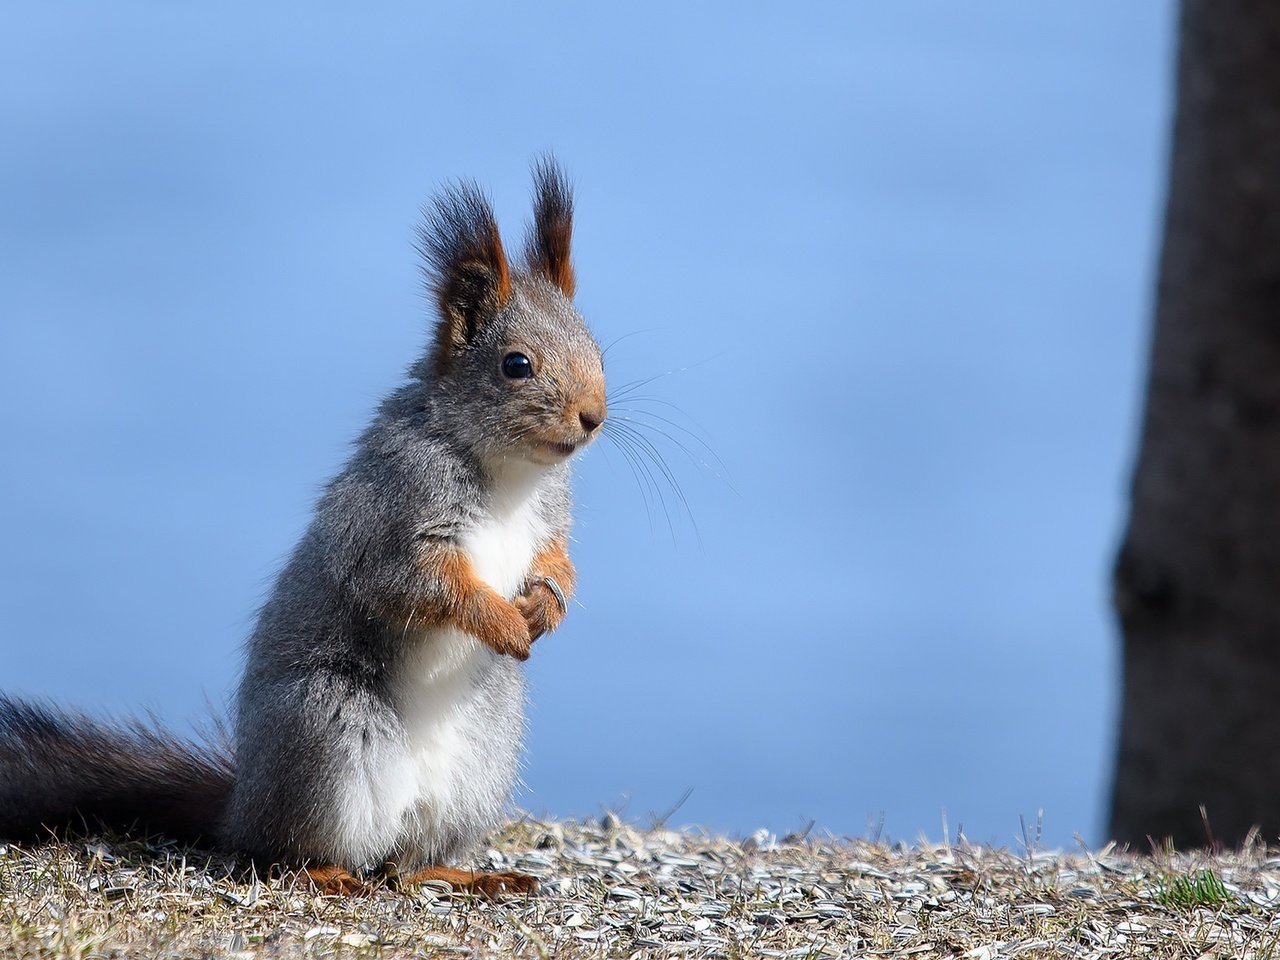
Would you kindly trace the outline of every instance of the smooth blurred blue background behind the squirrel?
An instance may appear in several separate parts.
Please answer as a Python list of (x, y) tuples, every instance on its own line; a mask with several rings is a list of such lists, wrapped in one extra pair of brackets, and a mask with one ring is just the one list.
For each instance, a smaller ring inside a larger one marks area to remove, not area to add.
[(6, 20), (4, 690), (224, 710), (425, 343), (419, 209), (475, 178), (513, 247), (554, 150), (612, 385), (657, 378), (612, 413), (666, 466), (580, 462), (518, 803), (1102, 840), (1171, 4)]

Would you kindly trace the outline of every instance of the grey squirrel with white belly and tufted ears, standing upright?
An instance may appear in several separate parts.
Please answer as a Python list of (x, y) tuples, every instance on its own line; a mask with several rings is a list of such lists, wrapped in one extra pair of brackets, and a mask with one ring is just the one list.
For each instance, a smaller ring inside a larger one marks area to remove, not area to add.
[(524, 736), (521, 663), (567, 611), (570, 460), (605, 420), (575, 308), (573, 198), (534, 165), (508, 262), (462, 182), (419, 230), (438, 319), (279, 572), (247, 644), (233, 742), (0, 696), (0, 838), (142, 827), (305, 872), (326, 893), (532, 877), (448, 864), (500, 820)]

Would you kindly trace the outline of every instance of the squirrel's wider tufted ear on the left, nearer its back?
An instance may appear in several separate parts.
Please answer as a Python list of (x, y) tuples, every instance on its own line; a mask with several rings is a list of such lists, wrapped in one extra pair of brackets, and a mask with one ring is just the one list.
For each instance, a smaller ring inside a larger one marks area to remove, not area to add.
[(511, 270), (493, 207), (474, 183), (443, 192), (417, 233), (422, 271), (440, 307), (436, 358), (447, 362), (511, 298)]

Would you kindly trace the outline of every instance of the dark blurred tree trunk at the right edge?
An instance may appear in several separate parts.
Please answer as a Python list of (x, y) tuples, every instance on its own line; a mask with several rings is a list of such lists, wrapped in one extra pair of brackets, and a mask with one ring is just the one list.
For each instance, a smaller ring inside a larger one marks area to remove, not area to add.
[[(1280, 835), (1280, 3), (1184, 0), (1111, 835)], [(1203, 805), (1210, 831), (1201, 815)]]

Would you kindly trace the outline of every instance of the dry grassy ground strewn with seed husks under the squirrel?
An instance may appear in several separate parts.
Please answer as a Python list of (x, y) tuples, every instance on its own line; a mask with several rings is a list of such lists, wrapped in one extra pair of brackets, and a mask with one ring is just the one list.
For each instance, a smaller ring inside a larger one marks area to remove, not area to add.
[[(1280, 859), (512, 824), (531, 899), (317, 897), (137, 841), (0, 846), (0, 956), (1271, 957)], [(1212, 878), (1212, 879), (1211, 879)], [(1199, 891), (1199, 892), (1197, 892)]]

